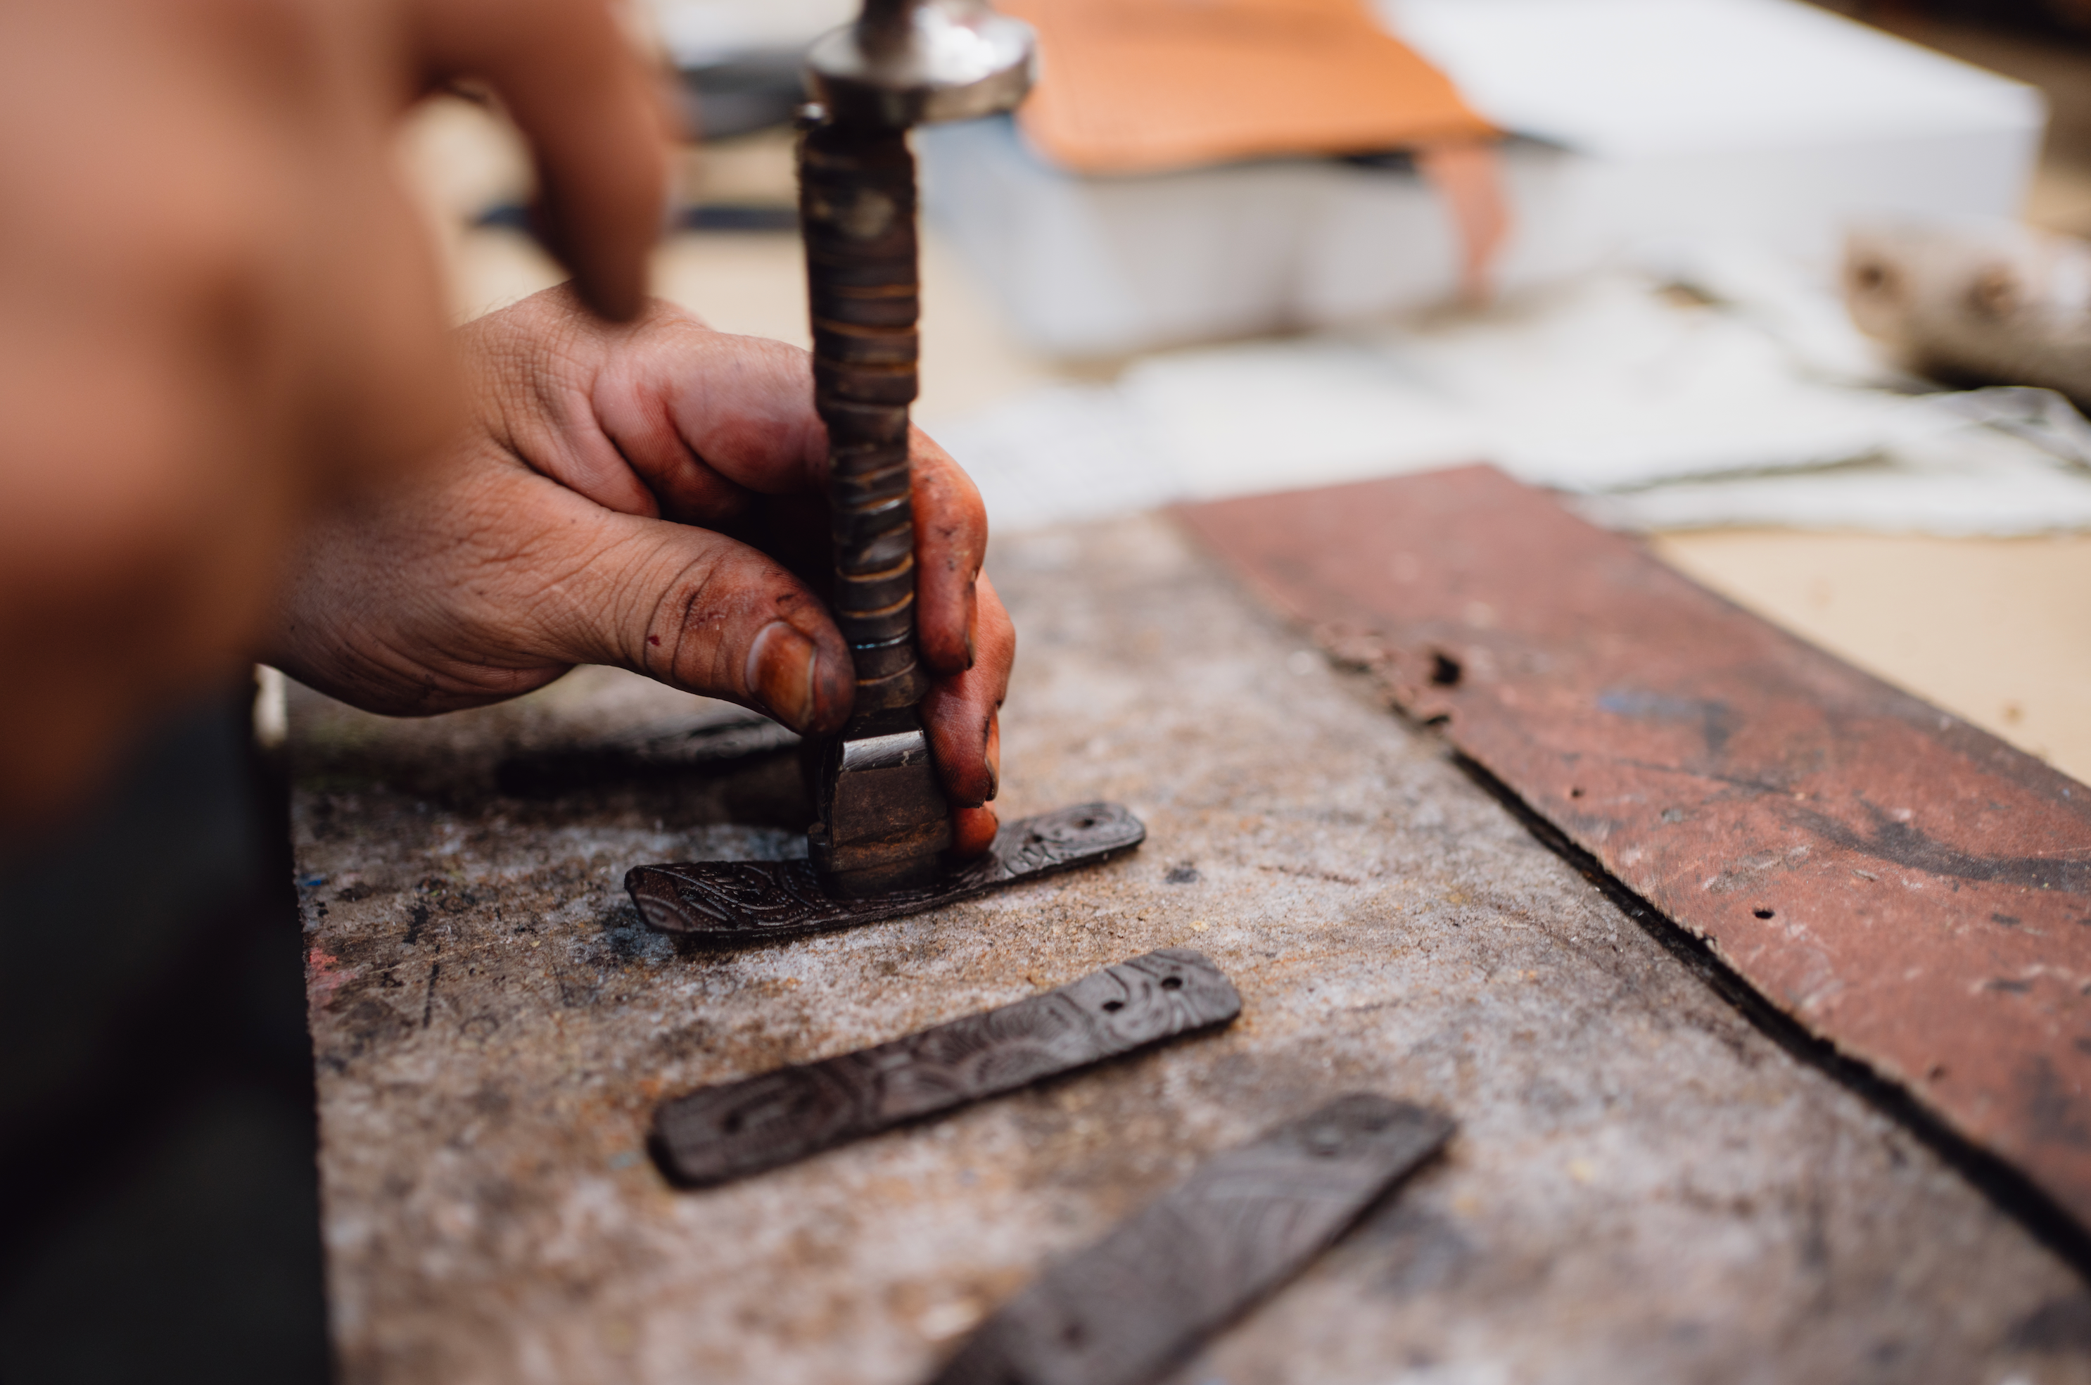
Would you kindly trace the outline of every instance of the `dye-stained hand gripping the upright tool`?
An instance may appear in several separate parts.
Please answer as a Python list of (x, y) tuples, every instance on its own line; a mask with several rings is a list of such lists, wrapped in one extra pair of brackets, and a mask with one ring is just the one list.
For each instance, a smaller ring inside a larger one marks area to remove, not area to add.
[[(393, 716), (608, 663), (838, 730), (855, 678), (815, 594), (830, 554), (811, 358), (667, 303), (608, 326), (565, 289), (460, 345), (470, 425), (307, 536), (268, 661)], [(970, 856), (995, 835), (1016, 632), (981, 575), (972, 481), (920, 431), (912, 460), (922, 720)]]

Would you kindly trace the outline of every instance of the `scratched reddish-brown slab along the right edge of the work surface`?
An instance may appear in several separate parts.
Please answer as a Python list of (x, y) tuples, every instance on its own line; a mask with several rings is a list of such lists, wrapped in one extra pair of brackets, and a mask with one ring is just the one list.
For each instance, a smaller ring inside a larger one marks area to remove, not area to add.
[(1769, 1002), (2091, 1224), (2091, 789), (1489, 467), (1181, 515)]

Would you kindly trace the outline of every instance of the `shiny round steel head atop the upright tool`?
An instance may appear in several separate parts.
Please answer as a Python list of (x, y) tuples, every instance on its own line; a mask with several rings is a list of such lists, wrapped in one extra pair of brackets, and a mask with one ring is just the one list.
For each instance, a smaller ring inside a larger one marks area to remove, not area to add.
[(805, 61), (828, 119), (891, 128), (1012, 111), (1035, 75), (1031, 25), (985, 0), (866, 0)]

